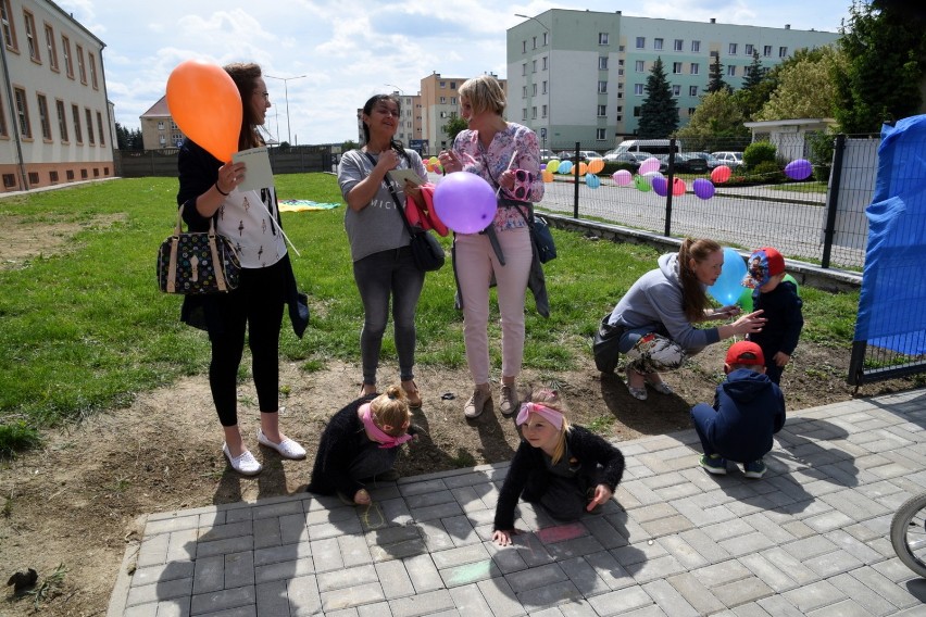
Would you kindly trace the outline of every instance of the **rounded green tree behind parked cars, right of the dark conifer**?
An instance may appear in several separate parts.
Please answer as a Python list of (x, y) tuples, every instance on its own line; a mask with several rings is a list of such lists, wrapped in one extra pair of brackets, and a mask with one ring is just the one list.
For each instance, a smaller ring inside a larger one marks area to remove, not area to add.
[(746, 118), (731, 92), (726, 89), (701, 97), (701, 104), (685, 126), (676, 133), (689, 151), (738, 150), (730, 147), (730, 138), (749, 140)]

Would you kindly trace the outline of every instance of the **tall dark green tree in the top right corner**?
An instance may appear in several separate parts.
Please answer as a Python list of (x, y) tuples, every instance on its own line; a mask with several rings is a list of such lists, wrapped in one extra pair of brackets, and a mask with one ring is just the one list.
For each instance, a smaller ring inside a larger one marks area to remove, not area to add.
[[(884, 7), (879, 9), (877, 7)], [(843, 133), (876, 133), (918, 113), (926, 75), (926, 27), (897, 3), (853, 0), (839, 28), (848, 61), (836, 72), (836, 119)]]

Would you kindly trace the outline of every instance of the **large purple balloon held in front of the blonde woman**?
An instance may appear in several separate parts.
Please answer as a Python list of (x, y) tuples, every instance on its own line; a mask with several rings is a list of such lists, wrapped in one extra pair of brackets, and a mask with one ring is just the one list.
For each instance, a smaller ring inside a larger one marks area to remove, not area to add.
[(434, 190), (434, 209), (445, 225), (460, 234), (477, 234), (491, 224), (496, 191), (476, 174), (456, 172)]

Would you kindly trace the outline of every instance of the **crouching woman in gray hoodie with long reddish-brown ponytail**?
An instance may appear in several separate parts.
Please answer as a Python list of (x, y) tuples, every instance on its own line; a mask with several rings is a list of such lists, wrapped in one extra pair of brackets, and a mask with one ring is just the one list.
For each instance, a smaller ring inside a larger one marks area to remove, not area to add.
[(711, 308), (706, 289), (723, 266), (723, 249), (706, 239), (686, 238), (677, 253), (659, 257), (659, 267), (637, 279), (601, 320), (595, 344), (599, 370), (614, 370), (624, 354), (627, 389), (645, 401), (647, 383), (656, 392), (672, 393), (660, 372), (679, 368), (686, 357), (722, 339), (761, 331), (762, 311), (716, 328), (694, 327), (698, 322), (729, 319), (740, 313), (735, 304)]

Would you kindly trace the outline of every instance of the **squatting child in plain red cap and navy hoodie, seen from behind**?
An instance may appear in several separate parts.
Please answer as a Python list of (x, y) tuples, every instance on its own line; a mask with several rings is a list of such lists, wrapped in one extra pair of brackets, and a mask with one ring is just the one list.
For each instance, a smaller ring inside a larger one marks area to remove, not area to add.
[(730, 345), (724, 373), (727, 378), (717, 386), (714, 406), (698, 403), (691, 408), (704, 451), (701, 467), (724, 475), (729, 458), (742, 463), (747, 478), (761, 478), (772, 436), (785, 426), (785, 396), (765, 375), (765, 356), (754, 342)]

